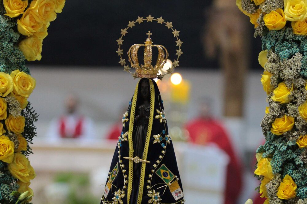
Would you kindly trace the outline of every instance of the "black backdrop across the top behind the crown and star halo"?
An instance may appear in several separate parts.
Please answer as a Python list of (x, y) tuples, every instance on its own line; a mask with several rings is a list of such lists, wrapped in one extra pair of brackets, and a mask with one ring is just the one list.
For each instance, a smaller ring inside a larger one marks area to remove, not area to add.
[[(128, 20), (149, 14), (154, 18), (172, 21), (173, 28), (180, 31), (179, 37), (184, 42), (180, 65), (192, 68), (214, 69), (219, 67), (217, 59), (208, 59), (204, 55), (201, 43), (202, 32), (206, 24), (206, 13), (212, 0), (205, 1), (103, 1), (103, 0), (68, 0), (62, 13), (48, 28), (49, 35), (44, 39), (41, 61), (29, 62), (33, 65), (63, 66), (118, 66), (119, 56), (116, 39), (120, 29), (126, 28)], [(248, 17), (246, 20), (249, 21)], [(145, 21), (144, 21), (145, 22)], [(157, 21), (135, 24), (123, 37), (124, 58), (134, 43), (143, 43), (146, 32), (150, 30), (154, 44), (164, 45), (170, 52), (170, 59), (175, 56), (176, 43), (171, 29)], [(258, 53), (261, 50), (260, 38), (252, 37), (253, 25), (247, 32), (252, 41), (251, 67), (259, 69)]]

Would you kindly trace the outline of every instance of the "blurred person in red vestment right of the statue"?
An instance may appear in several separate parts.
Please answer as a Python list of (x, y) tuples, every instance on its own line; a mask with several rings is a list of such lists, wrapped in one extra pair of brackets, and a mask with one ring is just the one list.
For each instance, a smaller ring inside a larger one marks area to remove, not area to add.
[(227, 166), (224, 204), (235, 204), (242, 187), (241, 164), (233, 150), (229, 136), (221, 123), (212, 117), (210, 109), (211, 100), (202, 99), (198, 111), (199, 116), (189, 121), (185, 129), (189, 132), (192, 143), (199, 145), (215, 143), (228, 154), (230, 162)]

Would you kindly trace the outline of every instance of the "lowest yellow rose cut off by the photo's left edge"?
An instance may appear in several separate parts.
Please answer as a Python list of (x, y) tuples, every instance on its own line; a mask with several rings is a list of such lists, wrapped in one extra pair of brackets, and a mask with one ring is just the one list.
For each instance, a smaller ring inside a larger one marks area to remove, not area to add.
[(0, 160), (6, 163), (11, 163), (14, 158), (14, 143), (10, 138), (2, 135), (0, 136)]

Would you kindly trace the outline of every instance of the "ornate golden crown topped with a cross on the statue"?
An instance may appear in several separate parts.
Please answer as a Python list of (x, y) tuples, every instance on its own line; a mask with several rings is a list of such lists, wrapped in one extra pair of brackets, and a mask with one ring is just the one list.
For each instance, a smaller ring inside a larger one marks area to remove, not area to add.
[[(146, 33), (148, 38), (145, 41), (145, 44), (134, 44), (128, 50), (128, 57), (131, 67), (135, 68), (135, 72), (139, 78), (157, 78), (157, 74), (159, 69), (163, 68), (167, 58), (169, 57), (169, 53), (166, 48), (162, 45), (153, 45), (153, 42), (150, 38), (150, 31)], [(138, 49), (141, 46), (145, 46), (144, 48), (144, 65), (139, 65), (138, 62)], [(156, 65), (152, 65), (152, 47), (157, 47), (158, 49), (158, 58)]]

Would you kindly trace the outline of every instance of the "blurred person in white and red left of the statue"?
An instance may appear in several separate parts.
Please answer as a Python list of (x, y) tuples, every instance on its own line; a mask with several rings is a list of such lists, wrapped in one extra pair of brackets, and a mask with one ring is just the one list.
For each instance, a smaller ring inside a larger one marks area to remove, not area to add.
[(93, 139), (95, 136), (93, 122), (78, 112), (79, 101), (75, 95), (65, 100), (66, 113), (52, 120), (47, 136), (49, 139), (81, 138)]

